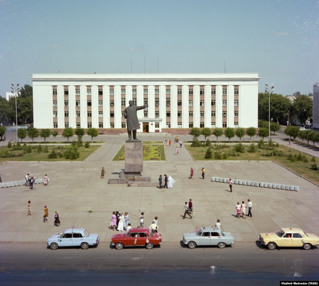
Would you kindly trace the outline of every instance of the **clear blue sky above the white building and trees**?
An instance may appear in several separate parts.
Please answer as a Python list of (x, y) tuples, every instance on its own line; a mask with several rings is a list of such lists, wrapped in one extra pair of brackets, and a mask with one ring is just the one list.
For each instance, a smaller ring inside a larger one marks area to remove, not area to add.
[[(33, 73), (258, 73), (319, 82), (317, 0), (0, 0), (0, 95)], [(159, 62), (157, 66), (157, 61)]]

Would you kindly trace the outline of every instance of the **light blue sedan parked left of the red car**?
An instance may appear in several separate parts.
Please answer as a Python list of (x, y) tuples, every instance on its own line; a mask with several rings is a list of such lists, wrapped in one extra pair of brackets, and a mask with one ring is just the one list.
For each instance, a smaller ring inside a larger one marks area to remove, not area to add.
[(70, 227), (48, 238), (48, 246), (56, 250), (63, 246), (81, 246), (88, 249), (89, 245), (98, 245), (99, 234), (93, 234), (81, 227)]

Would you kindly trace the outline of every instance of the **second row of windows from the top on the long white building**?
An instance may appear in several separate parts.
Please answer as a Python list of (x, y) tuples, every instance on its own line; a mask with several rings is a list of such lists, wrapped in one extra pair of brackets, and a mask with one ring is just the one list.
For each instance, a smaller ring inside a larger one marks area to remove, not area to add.
[[(92, 106), (92, 101), (87, 100), (86, 101), (87, 106)], [(144, 104), (148, 105), (148, 99), (144, 99)], [(136, 105), (136, 99), (133, 100), (133, 105)], [(239, 100), (235, 99), (234, 100), (234, 106), (239, 105)], [(58, 106), (57, 100), (53, 100), (53, 106)], [(69, 100), (64, 100), (64, 106), (69, 106)], [(80, 100), (75, 101), (75, 106), (81, 106)], [(98, 106), (101, 107), (103, 106), (103, 100), (99, 100)], [(110, 100), (110, 107), (114, 106), (114, 100)], [(125, 107), (126, 106), (126, 100), (125, 98), (121, 99), (121, 106)], [(155, 98), (155, 107), (159, 106), (159, 98)], [(171, 99), (166, 99), (166, 106), (171, 106)], [(182, 100), (177, 100), (177, 106), (182, 106)], [(194, 100), (189, 100), (188, 101), (188, 106), (194, 106)], [(205, 101), (200, 100), (199, 101), (199, 106), (205, 106)], [(211, 100), (211, 106), (216, 106), (216, 100)], [(222, 101), (222, 106), (227, 106), (227, 100)]]

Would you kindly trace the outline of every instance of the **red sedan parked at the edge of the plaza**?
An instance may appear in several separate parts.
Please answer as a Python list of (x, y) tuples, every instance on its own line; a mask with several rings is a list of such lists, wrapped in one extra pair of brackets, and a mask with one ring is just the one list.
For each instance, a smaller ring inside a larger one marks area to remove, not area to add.
[(112, 245), (116, 249), (122, 249), (124, 246), (145, 246), (152, 249), (154, 245), (162, 243), (160, 233), (151, 232), (148, 228), (131, 228), (126, 233), (114, 234), (112, 236)]

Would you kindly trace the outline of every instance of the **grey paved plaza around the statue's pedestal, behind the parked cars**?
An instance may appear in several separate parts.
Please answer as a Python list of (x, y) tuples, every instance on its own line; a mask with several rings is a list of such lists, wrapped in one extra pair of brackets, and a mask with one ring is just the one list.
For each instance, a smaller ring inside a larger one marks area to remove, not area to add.
[[(183, 233), (214, 225), (217, 219), (220, 219), (224, 231), (233, 234), (235, 242), (255, 242), (259, 233), (281, 227), (298, 227), (319, 233), (319, 187), (270, 161), (194, 162), (184, 146), (179, 147), (179, 154), (175, 155), (177, 144), (172, 143), (165, 147), (166, 161), (145, 161), (143, 171), (143, 174), (151, 175), (153, 182), (158, 181), (160, 174), (171, 175), (176, 180), (172, 189), (108, 184), (111, 174), (119, 174), (124, 169), (124, 162), (112, 159), (126, 137), (127, 134), (99, 135), (98, 139), (106, 143), (84, 162), (1, 164), (3, 182), (23, 180), (29, 173), (37, 178), (48, 174), (50, 183), (49, 186), (37, 184), (33, 190), (24, 186), (0, 189), (0, 241), (46, 242), (50, 235), (74, 225), (98, 233), (101, 241), (110, 242), (116, 233), (108, 229), (113, 211), (127, 211), (133, 227), (139, 225), (138, 217), (142, 211), (146, 227), (158, 216), (163, 244), (179, 243)], [(165, 137), (174, 141), (175, 138), (170, 134), (145, 133), (138, 134), (138, 137), (144, 141), (163, 141)], [(85, 140), (89, 140), (87, 136)], [(105, 179), (100, 179), (102, 167), (107, 171)], [(195, 179), (189, 179), (191, 167), (195, 170)], [(206, 170), (205, 179), (201, 176), (202, 167)], [(300, 186), (300, 191), (233, 185), (230, 193), (228, 184), (211, 182), (212, 176), (232, 178), (233, 181), (242, 179), (296, 185)], [(182, 219), (183, 204), (189, 198), (195, 214), (192, 219)], [(253, 217), (238, 219), (235, 205), (241, 201), (247, 204), (247, 199), (253, 203)], [(31, 217), (27, 216), (28, 200), (31, 200)], [(45, 204), (49, 209), (48, 223), (42, 222)], [(51, 226), (54, 211), (59, 211), (61, 228)]]

